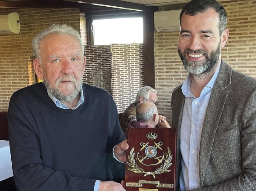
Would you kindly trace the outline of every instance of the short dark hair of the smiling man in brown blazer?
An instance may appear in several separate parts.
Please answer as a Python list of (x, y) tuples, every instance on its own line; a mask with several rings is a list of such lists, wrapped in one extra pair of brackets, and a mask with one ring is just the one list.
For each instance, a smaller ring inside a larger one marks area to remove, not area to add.
[(216, 0), (191, 0), (182, 9), (179, 15), (179, 24), (181, 25), (181, 17), (183, 13), (191, 16), (197, 13), (204, 13), (208, 9), (214, 9), (219, 14), (219, 36), (227, 27), (227, 13), (224, 7)]

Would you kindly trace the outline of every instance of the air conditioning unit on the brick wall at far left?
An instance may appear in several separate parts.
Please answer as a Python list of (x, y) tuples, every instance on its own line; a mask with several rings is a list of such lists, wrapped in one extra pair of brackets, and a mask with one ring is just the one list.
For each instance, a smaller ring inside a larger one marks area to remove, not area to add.
[(20, 24), (18, 13), (0, 15), (0, 35), (19, 34)]

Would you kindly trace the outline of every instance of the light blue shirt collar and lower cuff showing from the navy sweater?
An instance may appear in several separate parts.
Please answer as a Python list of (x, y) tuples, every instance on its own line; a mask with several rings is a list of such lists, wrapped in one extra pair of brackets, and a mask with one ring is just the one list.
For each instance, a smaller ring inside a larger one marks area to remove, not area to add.
[[(47, 90), (47, 93), (57, 107), (62, 108), (62, 109), (69, 109), (69, 107), (67, 107), (64, 103), (60, 102), (57, 98), (55, 98), (55, 96), (53, 96), (51, 93), (49, 93), (48, 90)], [(82, 90), (82, 86), (81, 86), (80, 100), (78, 102), (78, 105), (71, 109), (74, 110), (74, 109), (78, 108), (83, 102), (84, 102), (84, 97), (83, 97), (83, 90)], [(100, 182), (101, 182), (100, 180), (96, 180), (95, 185), (94, 185), (94, 191), (99, 191)]]

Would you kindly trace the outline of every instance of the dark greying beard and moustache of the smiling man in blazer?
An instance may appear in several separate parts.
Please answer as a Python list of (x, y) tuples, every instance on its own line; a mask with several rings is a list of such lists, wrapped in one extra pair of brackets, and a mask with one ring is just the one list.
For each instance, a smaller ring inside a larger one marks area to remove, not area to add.
[[(205, 54), (206, 60), (204, 61), (189, 61), (187, 59), (187, 53), (196, 53), (196, 54)], [(192, 75), (200, 75), (200, 74), (205, 74), (207, 72), (210, 72), (212, 68), (215, 67), (216, 64), (219, 62), (219, 54), (220, 54), (220, 42), (216, 48), (216, 50), (213, 50), (209, 54), (203, 50), (203, 49), (198, 49), (198, 50), (191, 50), (189, 48), (185, 49), (184, 52), (182, 53), (180, 49), (178, 49), (178, 55), (183, 62), (183, 67), (185, 70)]]

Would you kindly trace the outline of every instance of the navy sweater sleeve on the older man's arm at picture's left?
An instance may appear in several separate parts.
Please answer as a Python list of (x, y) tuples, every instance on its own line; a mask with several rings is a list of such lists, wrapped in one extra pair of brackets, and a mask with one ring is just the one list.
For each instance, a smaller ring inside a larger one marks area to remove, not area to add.
[(32, 111), (18, 107), (10, 100), (9, 143), (18, 191), (93, 191), (95, 179), (74, 177), (44, 166), (33, 117)]

